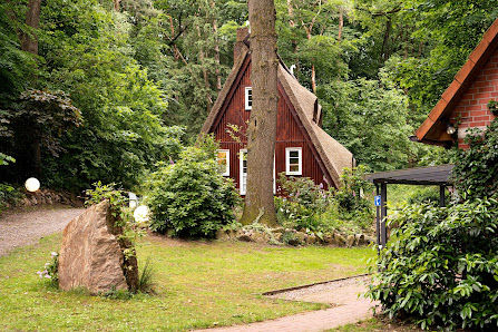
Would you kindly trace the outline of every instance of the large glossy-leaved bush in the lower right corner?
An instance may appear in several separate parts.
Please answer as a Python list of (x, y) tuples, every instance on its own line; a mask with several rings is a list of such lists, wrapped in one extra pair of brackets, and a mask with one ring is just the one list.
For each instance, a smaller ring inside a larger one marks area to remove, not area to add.
[(368, 292), (389, 316), (422, 329), (495, 329), (498, 324), (498, 202), (406, 206), (390, 221), (392, 241)]

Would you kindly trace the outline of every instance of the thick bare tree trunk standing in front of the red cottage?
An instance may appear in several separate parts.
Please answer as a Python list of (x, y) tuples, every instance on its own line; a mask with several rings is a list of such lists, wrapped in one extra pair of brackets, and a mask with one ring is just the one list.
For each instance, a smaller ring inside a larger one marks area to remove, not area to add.
[(242, 224), (274, 226), (273, 160), (279, 90), (275, 7), (273, 0), (248, 0), (253, 107), (247, 129), (247, 191)]

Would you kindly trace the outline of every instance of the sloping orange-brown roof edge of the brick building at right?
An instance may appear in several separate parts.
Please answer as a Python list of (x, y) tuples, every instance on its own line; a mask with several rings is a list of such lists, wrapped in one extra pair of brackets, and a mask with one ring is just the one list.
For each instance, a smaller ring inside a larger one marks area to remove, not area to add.
[(439, 102), (432, 108), (428, 118), (416, 130), (419, 141), (432, 145), (450, 145), (452, 137), (446, 133), (446, 125), (451, 111), (469, 88), (476, 75), (489, 60), (498, 47), (498, 19), (482, 36), (482, 40), (470, 53), (467, 62), (455, 76), (451, 85), (442, 94)]

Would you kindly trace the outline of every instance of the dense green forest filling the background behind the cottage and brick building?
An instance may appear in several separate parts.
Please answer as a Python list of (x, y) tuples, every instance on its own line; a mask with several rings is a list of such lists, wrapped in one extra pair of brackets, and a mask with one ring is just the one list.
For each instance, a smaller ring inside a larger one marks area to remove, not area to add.
[[(496, 0), (275, 0), (279, 53), (360, 164), (437, 163), (409, 136)], [(133, 188), (192, 143), (233, 64), (243, 0), (0, 3), (0, 182)], [(13, 160), (14, 159), (14, 160)]]

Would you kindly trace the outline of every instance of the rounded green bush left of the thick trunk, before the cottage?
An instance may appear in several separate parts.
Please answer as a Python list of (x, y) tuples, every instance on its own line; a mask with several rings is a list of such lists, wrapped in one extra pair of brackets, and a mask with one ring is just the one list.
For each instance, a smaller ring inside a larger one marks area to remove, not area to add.
[(147, 204), (153, 214), (153, 231), (212, 237), (234, 219), (238, 195), (232, 179), (221, 175), (216, 155), (213, 136), (199, 136), (176, 163), (163, 164), (152, 174)]

